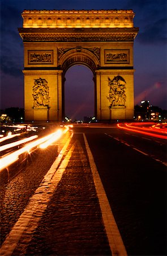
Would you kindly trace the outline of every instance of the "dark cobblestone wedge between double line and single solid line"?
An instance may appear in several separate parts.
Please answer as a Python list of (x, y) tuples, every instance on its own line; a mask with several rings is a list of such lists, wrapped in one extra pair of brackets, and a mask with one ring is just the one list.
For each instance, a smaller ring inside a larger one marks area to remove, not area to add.
[[(74, 135), (71, 144), (74, 140), (70, 162), (26, 255), (111, 255), (83, 135)], [(13, 255), (18, 254), (16, 249)]]

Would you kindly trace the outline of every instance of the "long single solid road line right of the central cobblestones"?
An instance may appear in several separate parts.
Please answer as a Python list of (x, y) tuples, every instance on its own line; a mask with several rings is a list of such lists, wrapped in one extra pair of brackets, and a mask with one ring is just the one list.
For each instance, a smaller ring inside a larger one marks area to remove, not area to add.
[(104, 226), (105, 226), (106, 234), (108, 236), (108, 241), (109, 241), (110, 249), (112, 251), (112, 255), (126, 256), (127, 253), (126, 253), (125, 245), (123, 244), (121, 234), (119, 233), (118, 226), (115, 222), (112, 209), (110, 208), (110, 204), (106, 196), (104, 187), (102, 185), (99, 172), (97, 171), (97, 167), (93, 159), (92, 152), (89, 148), (89, 144), (84, 133), (83, 133), (83, 137), (84, 137), (85, 147), (86, 147), (88, 158), (89, 158), (89, 164), (91, 166), (91, 171), (92, 171), (93, 180), (95, 183), (97, 196), (99, 198), (101, 214), (104, 221)]

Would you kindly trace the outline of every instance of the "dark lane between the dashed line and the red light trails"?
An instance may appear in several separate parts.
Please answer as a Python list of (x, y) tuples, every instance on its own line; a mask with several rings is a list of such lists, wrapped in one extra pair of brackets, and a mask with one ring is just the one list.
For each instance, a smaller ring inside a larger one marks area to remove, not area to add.
[(136, 147), (152, 158), (159, 159), (161, 162), (166, 163), (167, 143), (165, 139), (159, 139), (132, 131), (124, 131), (117, 128), (108, 130), (107, 134), (114, 138), (122, 139), (124, 142), (129, 143), (130, 146)]

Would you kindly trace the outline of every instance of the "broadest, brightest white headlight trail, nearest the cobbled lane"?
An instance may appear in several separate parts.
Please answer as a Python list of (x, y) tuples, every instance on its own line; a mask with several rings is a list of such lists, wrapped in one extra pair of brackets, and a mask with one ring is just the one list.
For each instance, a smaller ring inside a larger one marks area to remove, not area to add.
[[(41, 145), (42, 143), (46, 142), (46, 141), (51, 141), (50, 139), (54, 137), (54, 141), (56, 141), (57, 139), (59, 139), (61, 137), (61, 135), (63, 133), (66, 133), (66, 131), (69, 128), (66, 127), (65, 131), (62, 130), (58, 130), (55, 133), (49, 134), (43, 138), (40, 139), (36, 139), (35, 141), (28, 143), (27, 145), (25, 145), (24, 147), (20, 148), (19, 150), (16, 150), (14, 152), (12, 152), (11, 154), (8, 154), (6, 156), (3, 156), (0, 159), (0, 171), (2, 171), (4, 168), (7, 168), (8, 166), (10, 166), (12, 163), (14, 163), (16, 160), (19, 159), (19, 156), (24, 154), (25, 152), (28, 152), (28, 154), (31, 153), (32, 148), (35, 148), (39, 145)], [(57, 139), (55, 139), (57, 135)], [(53, 143), (53, 141), (51, 142)], [(47, 143), (48, 144), (48, 143)], [(49, 146), (49, 144), (48, 144)]]

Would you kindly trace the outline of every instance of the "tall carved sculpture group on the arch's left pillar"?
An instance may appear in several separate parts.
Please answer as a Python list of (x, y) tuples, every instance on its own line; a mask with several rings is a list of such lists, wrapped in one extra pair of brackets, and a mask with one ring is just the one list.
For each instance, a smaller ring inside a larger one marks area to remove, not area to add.
[(45, 79), (35, 79), (32, 91), (33, 108), (49, 106), (49, 86)]

